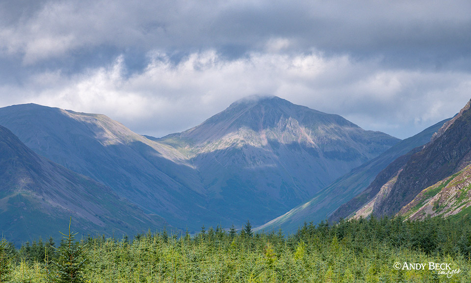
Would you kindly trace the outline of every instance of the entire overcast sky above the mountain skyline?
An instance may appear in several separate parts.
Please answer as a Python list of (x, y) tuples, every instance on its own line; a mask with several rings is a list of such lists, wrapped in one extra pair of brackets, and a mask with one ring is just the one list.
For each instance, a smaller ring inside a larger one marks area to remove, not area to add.
[(410, 137), (471, 98), (471, 1), (0, 1), (0, 107), (160, 137), (253, 94)]

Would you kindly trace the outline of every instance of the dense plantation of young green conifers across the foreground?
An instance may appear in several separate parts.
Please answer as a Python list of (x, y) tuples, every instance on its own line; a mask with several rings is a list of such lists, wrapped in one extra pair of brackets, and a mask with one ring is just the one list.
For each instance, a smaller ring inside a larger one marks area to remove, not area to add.
[[(225, 231), (202, 228), (190, 237), (161, 231), (122, 239), (88, 237), (74, 241), (70, 232), (58, 249), (52, 240), (24, 244), (20, 250), (1, 242), (7, 262), (2, 282), (469, 282), (471, 218), (370, 218), (306, 224), (297, 233)], [(29, 248), (28, 248), (29, 247)], [(32, 248), (35, 247), (35, 248)], [(42, 257), (43, 256), (43, 257)], [(41, 258), (42, 257), (42, 258)], [(425, 270), (396, 270), (395, 263), (424, 263)], [(428, 263), (448, 263), (451, 278)], [(86, 264), (85, 264), (86, 263)], [(77, 281), (61, 278), (72, 274)], [(74, 272), (75, 272), (74, 271)]]

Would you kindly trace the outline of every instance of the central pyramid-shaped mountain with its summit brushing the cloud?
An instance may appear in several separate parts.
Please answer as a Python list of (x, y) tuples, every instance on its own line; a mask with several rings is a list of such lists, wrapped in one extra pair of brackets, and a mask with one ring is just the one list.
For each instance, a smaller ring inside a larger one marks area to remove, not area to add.
[(399, 140), (278, 97), (250, 97), (157, 141), (192, 161), (211, 210), (225, 214), (231, 208), (237, 219), (251, 221), (257, 214), (260, 223)]

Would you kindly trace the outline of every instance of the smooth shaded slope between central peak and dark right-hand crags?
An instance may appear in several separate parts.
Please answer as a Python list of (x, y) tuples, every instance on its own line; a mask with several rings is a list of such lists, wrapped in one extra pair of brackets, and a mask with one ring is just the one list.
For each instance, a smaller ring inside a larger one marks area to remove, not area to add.
[[(326, 220), (331, 217), (334, 211), (337, 213), (337, 208), (343, 203), (366, 190), (375, 176), (396, 158), (417, 146), (429, 142), (432, 135), (448, 120), (438, 122), (419, 134), (396, 143), (378, 157), (336, 179), (325, 189), (315, 194), (309, 201), (297, 205), (284, 215), (258, 227), (258, 229), (282, 228), (285, 231), (295, 231), (304, 222), (319, 223)], [(350, 201), (350, 203), (352, 202)], [(352, 207), (352, 204), (343, 207)], [(335, 219), (337, 220), (337, 218)]]

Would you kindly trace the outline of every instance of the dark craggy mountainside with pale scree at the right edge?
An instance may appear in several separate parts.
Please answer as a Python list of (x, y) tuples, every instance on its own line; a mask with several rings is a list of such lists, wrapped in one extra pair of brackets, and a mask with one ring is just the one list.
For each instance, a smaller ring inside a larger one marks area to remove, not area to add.
[[(368, 188), (363, 196), (359, 195), (356, 198), (358, 200), (356, 207), (359, 209), (355, 209), (353, 216), (395, 215), (399, 211), (402, 211), (403, 215), (410, 215), (412, 213), (404, 207), (419, 209), (428, 197), (434, 197), (442, 190), (455, 190), (456, 182), (451, 181), (457, 176), (462, 176), (461, 171), (471, 161), (470, 124), (469, 102), (460, 113), (434, 134), (429, 143), (397, 159), (378, 174), (373, 182), (374, 186)], [(450, 199), (441, 200), (443, 203), (449, 201)], [(440, 201), (437, 205), (439, 203)], [(345, 207), (349, 205), (351, 203), (347, 203)], [(352, 215), (351, 211), (344, 209), (345, 207), (339, 209), (344, 210), (339, 216)]]

